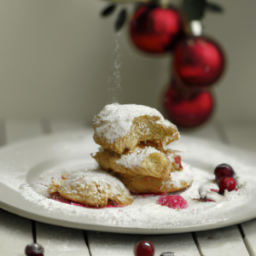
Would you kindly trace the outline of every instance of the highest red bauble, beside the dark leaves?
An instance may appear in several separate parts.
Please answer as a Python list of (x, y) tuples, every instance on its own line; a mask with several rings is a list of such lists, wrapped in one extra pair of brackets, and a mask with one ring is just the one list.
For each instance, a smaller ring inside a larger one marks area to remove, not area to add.
[(161, 54), (173, 48), (182, 33), (181, 16), (176, 9), (143, 5), (130, 23), (132, 42), (144, 52)]

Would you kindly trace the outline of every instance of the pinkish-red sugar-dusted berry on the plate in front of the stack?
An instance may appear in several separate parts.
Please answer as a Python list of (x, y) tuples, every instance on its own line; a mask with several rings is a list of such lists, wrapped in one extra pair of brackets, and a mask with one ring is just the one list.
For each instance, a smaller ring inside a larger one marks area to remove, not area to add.
[(173, 209), (185, 209), (189, 206), (188, 202), (185, 201), (181, 195), (160, 196), (157, 203), (161, 206), (166, 206)]

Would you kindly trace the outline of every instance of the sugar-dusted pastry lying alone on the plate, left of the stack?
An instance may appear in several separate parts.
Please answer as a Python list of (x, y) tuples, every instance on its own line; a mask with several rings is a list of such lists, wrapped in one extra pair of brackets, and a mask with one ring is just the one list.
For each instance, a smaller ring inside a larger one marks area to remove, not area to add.
[(123, 206), (133, 202), (124, 184), (102, 170), (74, 172), (66, 180), (53, 179), (49, 193), (55, 192), (68, 200), (91, 207), (105, 207), (108, 201)]

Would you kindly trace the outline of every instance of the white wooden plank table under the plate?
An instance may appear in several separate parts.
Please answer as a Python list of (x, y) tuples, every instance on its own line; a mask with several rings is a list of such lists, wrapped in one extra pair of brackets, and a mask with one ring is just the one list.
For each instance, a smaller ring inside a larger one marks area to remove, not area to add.
[[(0, 120), (0, 145), (59, 131), (86, 129), (83, 121)], [(88, 128), (87, 128), (88, 129)], [(212, 122), (198, 129), (181, 131), (219, 143), (234, 145), (256, 153), (256, 124)], [(0, 255), (25, 255), (34, 239), (44, 247), (44, 256), (132, 256), (137, 241), (154, 243), (155, 256), (174, 252), (175, 256), (256, 255), (256, 220), (218, 230), (164, 236), (144, 236), (73, 230), (34, 222), (0, 209)]]

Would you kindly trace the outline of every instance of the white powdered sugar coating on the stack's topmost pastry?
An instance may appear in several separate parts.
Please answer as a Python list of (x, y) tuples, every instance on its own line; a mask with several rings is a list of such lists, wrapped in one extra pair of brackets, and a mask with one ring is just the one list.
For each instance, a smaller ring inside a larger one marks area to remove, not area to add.
[(127, 135), (134, 119), (145, 115), (159, 117), (163, 125), (172, 125), (154, 108), (135, 104), (119, 105), (113, 103), (106, 105), (94, 118), (93, 122), (96, 126), (100, 125), (101, 121), (105, 122), (105, 124), (96, 127), (96, 134), (99, 137), (104, 137), (108, 143), (114, 143), (120, 137)]

